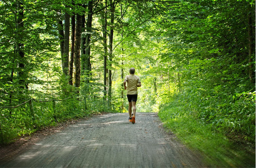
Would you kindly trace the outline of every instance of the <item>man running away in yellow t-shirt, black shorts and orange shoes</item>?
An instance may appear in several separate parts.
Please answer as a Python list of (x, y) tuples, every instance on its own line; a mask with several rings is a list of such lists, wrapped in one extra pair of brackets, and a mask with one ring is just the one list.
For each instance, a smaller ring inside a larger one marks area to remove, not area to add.
[[(135, 123), (135, 113), (136, 113), (136, 102), (138, 97), (137, 89), (141, 86), (140, 78), (134, 75), (135, 68), (132, 67), (129, 70), (130, 75), (125, 76), (124, 79), (124, 89), (127, 89), (127, 98), (129, 102), (129, 122)], [(127, 82), (127, 87), (126, 87)], [(132, 115), (133, 112), (133, 115)]]

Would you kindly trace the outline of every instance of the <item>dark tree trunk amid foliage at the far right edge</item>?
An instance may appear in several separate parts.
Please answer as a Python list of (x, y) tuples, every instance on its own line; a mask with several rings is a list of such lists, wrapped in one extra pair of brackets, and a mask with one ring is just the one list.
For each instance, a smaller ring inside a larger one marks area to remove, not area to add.
[(255, 56), (253, 55), (253, 33), (252, 33), (252, 11), (250, 10), (250, 4), (248, 4), (247, 7), (247, 29), (248, 29), (248, 53), (249, 53), (249, 77), (251, 83), (255, 83), (255, 77), (253, 75), (253, 60), (252, 57)]

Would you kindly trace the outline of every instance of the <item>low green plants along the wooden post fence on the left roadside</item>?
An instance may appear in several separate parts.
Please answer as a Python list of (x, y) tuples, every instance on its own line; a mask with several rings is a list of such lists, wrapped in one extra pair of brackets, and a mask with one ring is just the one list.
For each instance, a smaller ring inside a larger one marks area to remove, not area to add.
[(76, 98), (64, 101), (56, 100), (55, 108), (53, 101), (32, 102), (35, 115), (34, 120), (29, 103), (14, 109), (1, 109), (0, 122), (4, 143), (12, 141), (17, 136), (31, 134), (44, 126), (54, 125), (55, 122), (84, 117), (90, 114), (88, 111), (83, 111), (80, 101), (77, 101)]

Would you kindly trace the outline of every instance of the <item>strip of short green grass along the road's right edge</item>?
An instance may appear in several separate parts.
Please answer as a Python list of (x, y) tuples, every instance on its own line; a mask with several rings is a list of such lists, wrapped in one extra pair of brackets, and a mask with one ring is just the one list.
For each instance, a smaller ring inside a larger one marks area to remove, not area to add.
[(223, 132), (211, 130), (211, 125), (186, 115), (187, 109), (173, 101), (162, 105), (159, 117), (192, 150), (201, 152), (208, 167), (255, 167), (255, 146), (235, 143)]

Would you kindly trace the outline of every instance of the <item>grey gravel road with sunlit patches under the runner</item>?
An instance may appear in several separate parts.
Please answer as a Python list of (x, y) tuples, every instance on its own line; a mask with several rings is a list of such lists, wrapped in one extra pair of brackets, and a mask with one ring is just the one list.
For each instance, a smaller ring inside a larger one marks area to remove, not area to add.
[(157, 113), (109, 113), (72, 124), (0, 167), (204, 167)]

